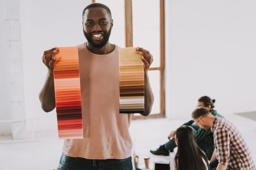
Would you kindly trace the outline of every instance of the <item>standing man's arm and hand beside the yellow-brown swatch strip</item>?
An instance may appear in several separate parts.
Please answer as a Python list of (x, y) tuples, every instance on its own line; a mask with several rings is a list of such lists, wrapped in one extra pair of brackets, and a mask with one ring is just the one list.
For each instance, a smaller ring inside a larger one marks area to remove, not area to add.
[(144, 83), (145, 83), (145, 111), (142, 116), (148, 116), (151, 112), (153, 102), (154, 102), (154, 95), (152, 89), (150, 87), (149, 78), (148, 78), (148, 68), (153, 62), (153, 56), (150, 54), (148, 50), (143, 48), (136, 48), (136, 53), (141, 55), (141, 60), (144, 63)]

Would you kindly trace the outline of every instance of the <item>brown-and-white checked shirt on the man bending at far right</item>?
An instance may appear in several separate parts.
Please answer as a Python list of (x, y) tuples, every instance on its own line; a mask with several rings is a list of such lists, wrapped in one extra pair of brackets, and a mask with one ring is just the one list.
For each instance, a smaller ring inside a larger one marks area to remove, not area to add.
[(227, 170), (256, 170), (245, 139), (234, 124), (216, 117), (211, 129), (219, 163), (227, 165)]

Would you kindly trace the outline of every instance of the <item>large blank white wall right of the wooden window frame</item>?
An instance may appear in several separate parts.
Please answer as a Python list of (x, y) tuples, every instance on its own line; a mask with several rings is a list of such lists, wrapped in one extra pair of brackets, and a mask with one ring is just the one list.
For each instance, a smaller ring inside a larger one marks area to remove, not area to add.
[(222, 115), (256, 111), (256, 1), (166, 5), (167, 117), (189, 118), (204, 95)]

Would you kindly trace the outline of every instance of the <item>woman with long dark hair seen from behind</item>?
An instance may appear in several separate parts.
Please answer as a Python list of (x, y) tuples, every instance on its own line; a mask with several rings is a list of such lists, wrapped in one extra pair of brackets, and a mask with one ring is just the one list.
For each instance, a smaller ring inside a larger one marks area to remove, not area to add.
[(178, 150), (171, 159), (171, 170), (209, 170), (209, 162), (205, 153), (195, 142), (194, 130), (190, 126), (180, 126), (175, 135)]

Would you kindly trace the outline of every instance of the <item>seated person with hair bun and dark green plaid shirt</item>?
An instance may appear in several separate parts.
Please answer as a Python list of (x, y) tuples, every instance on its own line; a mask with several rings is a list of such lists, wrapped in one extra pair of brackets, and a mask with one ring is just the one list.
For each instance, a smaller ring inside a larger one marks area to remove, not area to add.
[[(218, 114), (216, 110), (213, 109), (214, 103), (215, 100), (212, 100), (208, 96), (202, 96), (198, 99), (198, 106), (205, 107), (213, 116), (224, 118), (223, 116)], [(183, 125), (188, 125), (193, 128), (193, 130), (195, 131), (196, 143), (205, 152), (208, 159), (211, 159), (214, 150), (213, 133), (211, 132), (211, 130), (206, 131), (200, 128), (198, 125), (195, 124), (194, 120), (190, 120)], [(172, 131), (170, 133), (170, 135), (168, 136), (169, 141), (166, 142), (166, 144), (161, 145), (159, 148), (157, 148), (157, 150), (150, 150), (150, 153), (153, 153), (154, 155), (168, 156), (169, 152), (173, 152), (173, 149), (177, 147), (177, 145), (175, 144), (174, 133), (175, 131)]]

